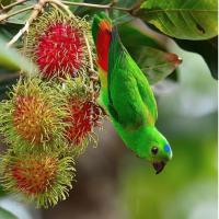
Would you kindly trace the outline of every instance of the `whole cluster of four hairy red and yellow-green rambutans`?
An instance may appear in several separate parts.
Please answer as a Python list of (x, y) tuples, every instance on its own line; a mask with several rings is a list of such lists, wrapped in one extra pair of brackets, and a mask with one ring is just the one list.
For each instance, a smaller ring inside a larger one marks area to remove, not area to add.
[[(1, 184), (38, 207), (65, 199), (74, 177), (74, 158), (101, 126), (99, 84), (90, 77), (90, 25), (57, 11), (36, 19), (23, 53), (38, 76), (21, 77), (0, 103)], [(93, 56), (93, 55), (92, 55)], [(92, 76), (93, 77), (93, 76)]]

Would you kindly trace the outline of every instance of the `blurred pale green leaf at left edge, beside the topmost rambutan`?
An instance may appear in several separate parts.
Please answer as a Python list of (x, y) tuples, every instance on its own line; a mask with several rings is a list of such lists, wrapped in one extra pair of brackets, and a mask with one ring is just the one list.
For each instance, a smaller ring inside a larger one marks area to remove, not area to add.
[(5, 43), (0, 38), (0, 67), (9, 70), (23, 70), (28, 74), (36, 73), (36, 67), (27, 60), (18, 50), (8, 48)]

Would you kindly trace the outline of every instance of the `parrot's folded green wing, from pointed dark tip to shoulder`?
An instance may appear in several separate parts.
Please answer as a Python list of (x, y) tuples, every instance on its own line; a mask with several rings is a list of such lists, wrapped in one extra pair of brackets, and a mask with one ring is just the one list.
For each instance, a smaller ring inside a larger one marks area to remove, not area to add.
[(158, 115), (153, 93), (115, 28), (112, 32), (107, 77), (107, 108), (112, 117), (124, 128), (154, 125)]

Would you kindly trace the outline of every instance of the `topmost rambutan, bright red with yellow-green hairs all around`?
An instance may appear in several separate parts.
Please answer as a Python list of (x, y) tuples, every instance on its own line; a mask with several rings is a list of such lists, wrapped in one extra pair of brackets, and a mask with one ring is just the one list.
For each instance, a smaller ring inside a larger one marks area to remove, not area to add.
[(85, 71), (88, 49), (84, 35), (89, 24), (58, 11), (46, 12), (33, 23), (26, 37), (27, 53), (44, 78), (76, 77)]

